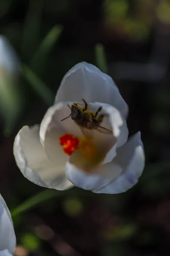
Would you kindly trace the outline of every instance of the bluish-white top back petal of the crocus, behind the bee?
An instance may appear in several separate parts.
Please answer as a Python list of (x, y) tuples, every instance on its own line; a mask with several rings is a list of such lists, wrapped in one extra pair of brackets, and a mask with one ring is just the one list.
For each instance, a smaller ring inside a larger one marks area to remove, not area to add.
[(111, 77), (86, 62), (75, 65), (66, 73), (57, 91), (55, 103), (81, 102), (82, 98), (88, 103), (110, 104), (123, 116), (127, 116), (127, 104)]

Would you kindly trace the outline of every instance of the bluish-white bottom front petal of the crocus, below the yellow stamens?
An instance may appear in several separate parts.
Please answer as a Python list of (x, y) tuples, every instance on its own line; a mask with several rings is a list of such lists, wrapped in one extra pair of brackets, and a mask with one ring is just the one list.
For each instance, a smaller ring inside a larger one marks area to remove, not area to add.
[[(106, 186), (111, 182), (111, 179), (117, 177), (122, 172), (119, 166), (112, 164), (112, 166), (110, 165), (109, 168), (106, 167), (105, 169), (102, 166), (102, 175), (99, 173), (100, 169), (96, 170), (96, 174), (87, 174), (69, 162), (66, 164), (65, 170), (66, 176), (71, 183), (87, 190), (100, 189)], [(113, 171), (112, 173), (111, 170)]]

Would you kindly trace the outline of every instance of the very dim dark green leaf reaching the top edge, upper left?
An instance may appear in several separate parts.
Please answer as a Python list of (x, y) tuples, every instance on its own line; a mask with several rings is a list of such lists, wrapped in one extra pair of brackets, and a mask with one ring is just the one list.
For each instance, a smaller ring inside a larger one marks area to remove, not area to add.
[(43, 2), (43, 0), (29, 1), (21, 44), (22, 55), (26, 60), (30, 58), (39, 44)]

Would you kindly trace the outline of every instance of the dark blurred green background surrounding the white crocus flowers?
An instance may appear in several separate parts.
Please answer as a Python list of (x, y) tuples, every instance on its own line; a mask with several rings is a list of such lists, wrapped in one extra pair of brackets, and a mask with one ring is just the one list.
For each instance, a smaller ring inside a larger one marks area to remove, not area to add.
[[(14, 221), (15, 255), (169, 256), (170, 1), (0, 0), (0, 34), (21, 61), (15, 87), (0, 88), (0, 192)], [(146, 167), (126, 193), (44, 190), (15, 164), (15, 135), (41, 122), (79, 61), (108, 72), (129, 105), (130, 135), (142, 132)], [(16, 209), (37, 193), (27, 202), (34, 207)]]

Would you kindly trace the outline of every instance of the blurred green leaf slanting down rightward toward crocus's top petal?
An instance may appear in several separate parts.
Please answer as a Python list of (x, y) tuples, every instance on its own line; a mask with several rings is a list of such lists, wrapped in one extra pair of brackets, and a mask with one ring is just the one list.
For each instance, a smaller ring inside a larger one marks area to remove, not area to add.
[(54, 94), (26, 64), (22, 65), (22, 74), (45, 103), (51, 105), (54, 101)]

